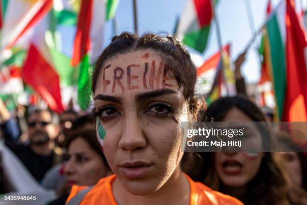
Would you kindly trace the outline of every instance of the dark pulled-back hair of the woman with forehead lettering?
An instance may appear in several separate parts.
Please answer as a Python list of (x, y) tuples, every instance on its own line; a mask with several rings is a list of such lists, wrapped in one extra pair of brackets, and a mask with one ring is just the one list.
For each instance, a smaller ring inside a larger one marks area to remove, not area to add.
[(182, 88), (184, 97), (189, 104), (190, 113), (195, 119), (200, 108), (200, 101), (194, 97), (196, 66), (181, 41), (173, 36), (164, 37), (153, 33), (137, 36), (128, 32), (114, 36), (110, 45), (103, 50), (96, 61), (92, 75), (92, 92), (94, 93), (98, 76), (108, 60), (120, 54), (140, 50), (158, 52), (167, 64), (172, 65), (169, 74), (177, 80), (178, 85)]

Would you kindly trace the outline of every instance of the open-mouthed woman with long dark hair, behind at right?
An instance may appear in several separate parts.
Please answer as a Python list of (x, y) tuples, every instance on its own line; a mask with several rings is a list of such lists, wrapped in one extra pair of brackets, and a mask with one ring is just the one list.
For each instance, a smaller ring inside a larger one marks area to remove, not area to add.
[[(202, 121), (265, 122), (258, 107), (243, 96), (221, 97), (205, 112)], [(270, 147), (269, 126), (256, 126), (262, 146)], [(255, 135), (256, 136), (256, 135)], [(273, 152), (199, 152), (202, 165), (189, 174), (245, 204), (306, 204), (306, 196), (293, 196), (286, 173)], [(295, 194), (295, 193), (294, 193)], [(296, 195), (297, 196), (297, 195)]]

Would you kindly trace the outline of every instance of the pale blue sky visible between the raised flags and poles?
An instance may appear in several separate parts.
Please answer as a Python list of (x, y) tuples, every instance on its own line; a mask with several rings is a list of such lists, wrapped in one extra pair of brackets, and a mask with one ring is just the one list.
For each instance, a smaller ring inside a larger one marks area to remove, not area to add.
[[(180, 16), (185, 8), (187, 0), (137, 0), (138, 32), (167, 32), (173, 33), (176, 17)], [(252, 10), (255, 29), (258, 30), (265, 21), (265, 10), (268, 0), (219, 0), (216, 7), (217, 17), (220, 24), (222, 44), (231, 43), (231, 58), (234, 61), (236, 57), (243, 52), (244, 48), (252, 38), (252, 31), (248, 21), (246, 1), (249, 1)], [(272, 6), (276, 6), (280, 0), (272, 0)], [(300, 7), (305, 0), (297, 0), (296, 7)], [(133, 32), (133, 9), (132, 0), (120, 0), (116, 15), (118, 33), (123, 31)], [(74, 28), (59, 28), (62, 34), (62, 47), (67, 55), (71, 55)], [(105, 25), (104, 42), (110, 43), (114, 35), (111, 22)], [(260, 36), (250, 47), (246, 61), (242, 65), (242, 74), (247, 82), (257, 82), (260, 77), (260, 60), (257, 54), (257, 44)], [(208, 47), (203, 54), (196, 58), (198, 63), (206, 60), (219, 49), (217, 41), (216, 24), (212, 23)]]

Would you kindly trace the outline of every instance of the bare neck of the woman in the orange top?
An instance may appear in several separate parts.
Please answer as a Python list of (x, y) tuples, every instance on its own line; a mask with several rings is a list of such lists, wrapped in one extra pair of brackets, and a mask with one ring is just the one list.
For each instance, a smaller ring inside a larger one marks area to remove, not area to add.
[(169, 180), (157, 191), (147, 195), (133, 195), (116, 178), (112, 184), (118, 204), (189, 204), (190, 184), (184, 173), (177, 168)]

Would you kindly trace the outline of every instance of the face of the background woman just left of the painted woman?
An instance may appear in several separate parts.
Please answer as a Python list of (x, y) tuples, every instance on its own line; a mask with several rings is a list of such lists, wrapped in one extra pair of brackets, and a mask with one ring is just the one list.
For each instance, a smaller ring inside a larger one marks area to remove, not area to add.
[(68, 154), (69, 161), (64, 167), (67, 186), (94, 185), (109, 171), (97, 152), (80, 137), (71, 142)]

